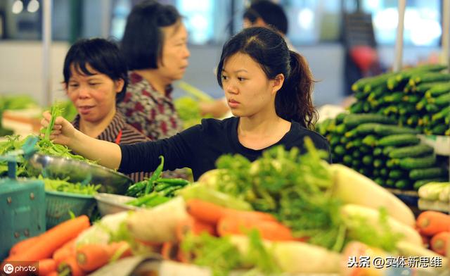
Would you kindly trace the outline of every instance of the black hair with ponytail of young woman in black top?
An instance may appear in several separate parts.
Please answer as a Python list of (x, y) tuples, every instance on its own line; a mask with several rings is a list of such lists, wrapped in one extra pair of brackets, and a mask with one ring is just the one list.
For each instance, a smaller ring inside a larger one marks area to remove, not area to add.
[(276, 114), (314, 129), (318, 115), (311, 98), (314, 87), (311, 70), (300, 54), (288, 49), (278, 32), (266, 27), (249, 27), (231, 37), (222, 49), (217, 66), (217, 81), (221, 87), (224, 62), (236, 53), (248, 54), (269, 80), (283, 74), (283, 86), (275, 96)]

